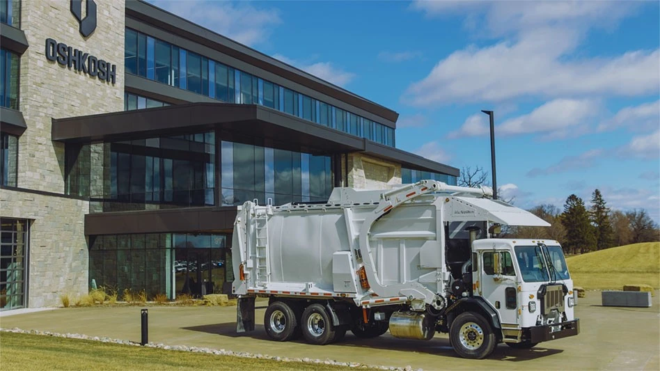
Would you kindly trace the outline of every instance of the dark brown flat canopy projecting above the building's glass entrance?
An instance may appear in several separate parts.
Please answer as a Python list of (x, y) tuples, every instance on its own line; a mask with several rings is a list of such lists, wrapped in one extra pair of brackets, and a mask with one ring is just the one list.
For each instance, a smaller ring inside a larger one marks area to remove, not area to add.
[(256, 104), (191, 103), (136, 111), (53, 119), (52, 139), (67, 143), (113, 142), (218, 129), (221, 139), (313, 155), (362, 152), (405, 168), (459, 175), (459, 170), (409, 152), (358, 138)]

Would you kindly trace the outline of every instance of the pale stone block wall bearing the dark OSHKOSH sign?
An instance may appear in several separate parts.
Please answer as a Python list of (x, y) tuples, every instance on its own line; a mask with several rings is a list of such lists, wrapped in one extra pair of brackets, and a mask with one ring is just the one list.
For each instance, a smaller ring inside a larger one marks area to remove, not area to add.
[[(30, 46), (20, 58), (19, 110), (27, 129), (18, 143), (19, 188), (65, 191), (65, 146), (51, 139), (52, 118), (123, 111), (125, 1), (95, 2), (97, 27), (88, 38), (79, 33), (70, 1), (21, 2), (20, 28)], [(86, 1), (82, 8), (85, 17)], [(47, 60), (48, 38), (116, 65), (115, 84)], [(54, 306), (61, 294), (86, 292), (88, 202), (5, 189), (0, 202), (1, 216), (31, 221), (29, 306)]]

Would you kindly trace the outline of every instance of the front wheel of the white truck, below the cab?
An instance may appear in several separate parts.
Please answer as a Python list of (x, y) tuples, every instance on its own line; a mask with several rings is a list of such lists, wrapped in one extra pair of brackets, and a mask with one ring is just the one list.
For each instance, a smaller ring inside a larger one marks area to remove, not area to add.
[(451, 324), (449, 338), (454, 351), (463, 358), (481, 359), (489, 356), (497, 345), (495, 333), (483, 317), (462, 313)]

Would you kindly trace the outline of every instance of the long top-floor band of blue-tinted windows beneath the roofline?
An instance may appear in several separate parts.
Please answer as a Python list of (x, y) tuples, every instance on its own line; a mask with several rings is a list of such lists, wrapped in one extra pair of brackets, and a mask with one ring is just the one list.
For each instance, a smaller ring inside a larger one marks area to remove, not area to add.
[(124, 56), (126, 72), (131, 74), (221, 102), (260, 104), (354, 136), (395, 146), (391, 127), (132, 29), (126, 29)]

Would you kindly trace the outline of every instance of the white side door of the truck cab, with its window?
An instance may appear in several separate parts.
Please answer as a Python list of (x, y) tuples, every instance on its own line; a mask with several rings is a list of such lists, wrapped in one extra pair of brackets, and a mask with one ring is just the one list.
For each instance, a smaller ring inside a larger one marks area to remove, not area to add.
[[(496, 274), (496, 257), (501, 260), (501, 274)], [(481, 253), (481, 294), (500, 313), (504, 324), (518, 324), (516, 271), (509, 251)]]

